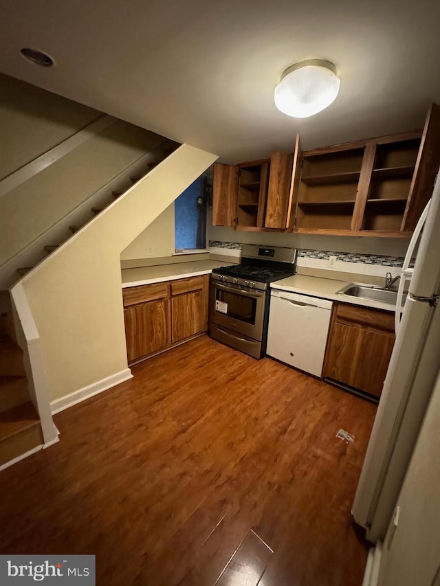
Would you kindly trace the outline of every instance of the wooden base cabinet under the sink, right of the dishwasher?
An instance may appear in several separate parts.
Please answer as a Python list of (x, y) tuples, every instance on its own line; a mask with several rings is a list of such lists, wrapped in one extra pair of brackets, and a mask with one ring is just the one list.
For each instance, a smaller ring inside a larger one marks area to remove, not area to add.
[(379, 397), (394, 341), (393, 313), (335, 304), (322, 376)]

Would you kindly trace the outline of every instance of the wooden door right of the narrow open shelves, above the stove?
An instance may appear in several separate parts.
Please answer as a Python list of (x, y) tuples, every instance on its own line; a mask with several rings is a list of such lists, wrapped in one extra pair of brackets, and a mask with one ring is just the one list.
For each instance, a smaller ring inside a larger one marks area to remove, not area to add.
[(286, 228), (293, 155), (275, 151), (270, 156), (269, 188), (265, 214), (266, 228)]

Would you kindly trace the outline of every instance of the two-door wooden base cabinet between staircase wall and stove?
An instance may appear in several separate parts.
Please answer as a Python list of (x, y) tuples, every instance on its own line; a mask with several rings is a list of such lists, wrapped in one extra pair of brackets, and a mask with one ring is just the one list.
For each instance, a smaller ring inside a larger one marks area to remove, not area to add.
[(209, 275), (122, 290), (129, 363), (208, 330)]

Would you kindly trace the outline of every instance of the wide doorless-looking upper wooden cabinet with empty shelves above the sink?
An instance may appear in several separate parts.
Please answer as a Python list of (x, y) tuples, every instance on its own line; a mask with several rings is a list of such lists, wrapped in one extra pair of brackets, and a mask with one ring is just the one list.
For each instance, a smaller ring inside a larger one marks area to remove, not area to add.
[(440, 107), (421, 131), (295, 153), (294, 232), (409, 237), (440, 165)]

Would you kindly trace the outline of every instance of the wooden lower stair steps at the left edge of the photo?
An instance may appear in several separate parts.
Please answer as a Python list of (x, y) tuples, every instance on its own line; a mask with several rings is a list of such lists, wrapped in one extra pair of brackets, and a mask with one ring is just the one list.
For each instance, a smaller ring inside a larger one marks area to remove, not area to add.
[(17, 344), (12, 308), (0, 314), (0, 468), (43, 446), (39, 416), (30, 401), (23, 352)]

